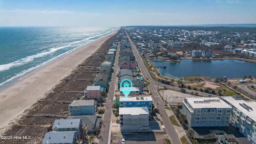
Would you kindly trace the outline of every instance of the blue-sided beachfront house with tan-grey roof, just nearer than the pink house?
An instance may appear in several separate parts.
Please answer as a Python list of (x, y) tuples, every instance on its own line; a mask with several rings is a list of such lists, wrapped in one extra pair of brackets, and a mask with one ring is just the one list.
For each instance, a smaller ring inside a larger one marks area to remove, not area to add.
[(68, 105), (70, 116), (88, 116), (95, 115), (97, 105), (95, 100), (74, 100)]

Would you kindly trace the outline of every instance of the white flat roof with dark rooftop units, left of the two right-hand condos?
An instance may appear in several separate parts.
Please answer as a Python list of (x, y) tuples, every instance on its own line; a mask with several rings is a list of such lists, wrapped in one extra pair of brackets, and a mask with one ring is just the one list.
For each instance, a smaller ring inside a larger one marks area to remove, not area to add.
[(223, 100), (220, 100), (219, 98), (185, 98), (185, 103), (192, 107), (192, 109), (195, 108), (232, 108), (230, 105), (228, 105)]

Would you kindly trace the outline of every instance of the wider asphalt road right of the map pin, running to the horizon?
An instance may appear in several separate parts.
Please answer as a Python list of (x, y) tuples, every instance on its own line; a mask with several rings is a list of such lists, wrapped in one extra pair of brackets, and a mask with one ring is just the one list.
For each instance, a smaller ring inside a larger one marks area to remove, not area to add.
[[(126, 32), (126, 34), (127, 34), (127, 32)], [(162, 121), (164, 122), (164, 127), (166, 128), (168, 137), (170, 138), (172, 144), (181, 144), (180, 138), (179, 138), (174, 126), (172, 125), (172, 122), (170, 121), (170, 118), (168, 117), (166, 110), (164, 109), (164, 102), (159, 98), (158, 92), (156, 91), (158, 88), (158, 82), (156, 82), (155, 80), (153, 80), (150, 77), (150, 74), (148, 73), (146, 67), (144, 66), (144, 63), (143, 63), (142, 59), (140, 58), (138, 51), (135, 49), (135, 46), (132, 43), (132, 40), (130, 39), (128, 34), (127, 34), (127, 37), (132, 46), (132, 51), (133, 51), (136, 61), (138, 62), (140, 71), (142, 72), (142, 76), (144, 78), (148, 77), (148, 81), (151, 83), (148, 86), (148, 89), (150, 90), (150, 93), (153, 96), (154, 104), (158, 107), (159, 112), (162, 115), (161, 118), (162, 118)], [(165, 86), (165, 85), (159, 83), (159, 87), (163, 87), (163, 86)], [(170, 85), (166, 85), (166, 86), (170, 87)], [(158, 104), (156, 104), (157, 101), (158, 101)]]

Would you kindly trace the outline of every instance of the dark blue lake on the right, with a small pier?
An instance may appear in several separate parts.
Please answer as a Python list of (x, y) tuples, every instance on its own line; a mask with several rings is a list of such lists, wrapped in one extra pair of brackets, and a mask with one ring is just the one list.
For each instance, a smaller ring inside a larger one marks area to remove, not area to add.
[(172, 79), (186, 76), (209, 76), (211, 78), (243, 78), (244, 75), (256, 75), (256, 63), (240, 60), (182, 60), (177, 63), (156, 62), (155, 66), (166, 65), (158, 71)]

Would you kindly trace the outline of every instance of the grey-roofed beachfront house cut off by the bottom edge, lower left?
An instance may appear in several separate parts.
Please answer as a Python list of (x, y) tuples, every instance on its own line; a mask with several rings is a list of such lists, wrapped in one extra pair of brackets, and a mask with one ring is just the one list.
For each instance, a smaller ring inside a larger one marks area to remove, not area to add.
[(77, 131), (47, 132), (42, 144), (76, 144)]

